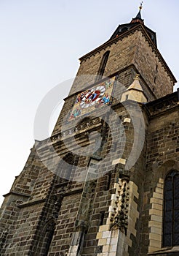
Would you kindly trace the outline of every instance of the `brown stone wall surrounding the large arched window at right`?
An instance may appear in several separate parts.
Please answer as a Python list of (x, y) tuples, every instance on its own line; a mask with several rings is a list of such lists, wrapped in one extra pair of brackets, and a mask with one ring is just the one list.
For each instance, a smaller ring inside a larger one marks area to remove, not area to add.
[[(172, 100), (171, 100), (172, 99)], [(160, 106), (160, 107), (159, 107)], [(168, 106), (166, 108), (166, 106)], [(140, 255), (162, 249), (163, 184), (170, 170), (179, 170), (179, 112), (177, 93), (149, 105), (146, 181)]]

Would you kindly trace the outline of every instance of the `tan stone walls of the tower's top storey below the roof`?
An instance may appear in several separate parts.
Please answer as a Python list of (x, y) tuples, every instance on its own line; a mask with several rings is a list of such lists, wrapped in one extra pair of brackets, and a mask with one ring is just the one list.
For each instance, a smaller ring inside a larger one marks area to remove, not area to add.
[[(154, 45), (148, 43), (142, 31), (133, 31), (128, 37), (121, 40), (114, 40), (108, 43), (108, 47), (98, 50), (89, 58), (81, 61), (77, 77), (81, 75), (97, 75), (100, 61), (103, 54), (110, 50), (110, 55), (106, 65), (104, 76), (114, 74), (120, 70), (134, 64), (141, 78), (145, 81), (145, 86), (149, 87), (151, 97), (154, 99), (172, 93), (174, 82), (164, 69), (162, 59), (158, 58), (154, 50)], [(70, 94), (84, 89), (87, 84), (92, 84), (95, 77), (85, 77), (77, 79), (73, 83)], [(148, 86), (147, 86), (148, 85)], [(148, 90), (146, 88), (146, 90)]]

